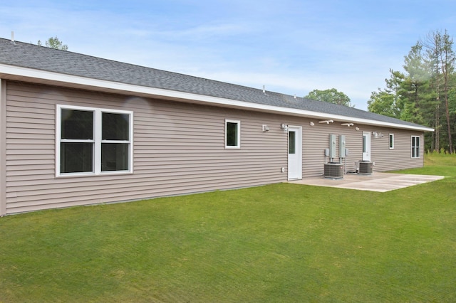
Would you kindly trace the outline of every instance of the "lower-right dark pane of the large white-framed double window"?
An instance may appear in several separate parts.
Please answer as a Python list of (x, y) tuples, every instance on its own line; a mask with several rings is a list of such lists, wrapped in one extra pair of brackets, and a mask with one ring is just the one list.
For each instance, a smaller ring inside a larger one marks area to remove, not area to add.
[(101, 171), (128, 171), (128, 143), (101, 144)]

